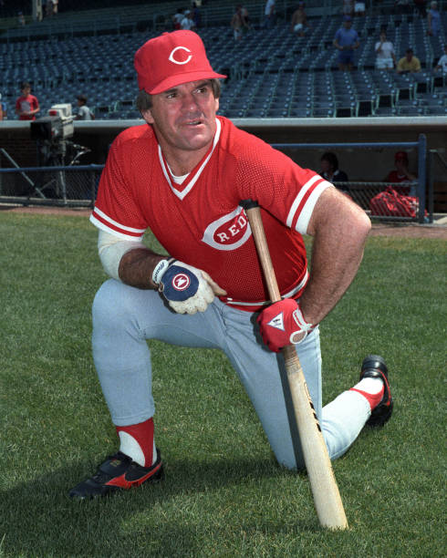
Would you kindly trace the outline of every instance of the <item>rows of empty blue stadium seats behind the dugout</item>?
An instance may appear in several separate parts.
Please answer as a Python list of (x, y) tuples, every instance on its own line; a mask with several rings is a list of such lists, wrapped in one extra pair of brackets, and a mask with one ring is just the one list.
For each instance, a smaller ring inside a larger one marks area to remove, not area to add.
[[(219, 114), (230, 118), (447, 115), (447, 77), (433, 72), (447, 42), (446, 13), (442, 13), (442, 32), (434, 37), (427, 35), (426, 21), (414, 14), (371, 9), (356, 17), (354, 27), (360, 36), (356, 68), (340, 72), (332, 46), (340, 15), (310, 17), (307, 35), (299, 37), (290, 32), (286, 15), (291, 4), (287, 3), (276, 26), (262, 28), (264, 4), (245, 3), (254, 25), (239, 42), (234, 42), (229, 26), (234, 5), (219, 3), (214, 12), (211, 6), (209, 11), (203, 6), (199, 33), (213, 68), (228, 75)], [(178, 5), (182, 4), (124, 6), (125, 11), (115, 6), (96, 15), (91, 10), (76, 16), (60, 14), (51, 22), (15, 30), (16, 36), (4, 34), (3, 41), (0, 36), (0, 92), (9, 118), (14, 118), (23, 79), (32, 83), (41, 115), (55, 103), (76, 106), (76, 96), (84, 93), (97, 119), (139, 118), (134, 105), (134, 53), (151, 36), (171, 30), (171, 14)], [(223, 21), (226, 24), (214, 25)], [(407, 47), (413, 48), (421, 60), (419, 74), (375, 69), (380, 26), (387, 27), (397, 58), (404, 56)]]

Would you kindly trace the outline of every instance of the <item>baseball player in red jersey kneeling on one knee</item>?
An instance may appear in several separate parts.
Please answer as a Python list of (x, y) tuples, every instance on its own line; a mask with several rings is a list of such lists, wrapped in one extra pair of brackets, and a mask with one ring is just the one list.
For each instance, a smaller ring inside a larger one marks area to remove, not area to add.
[[(225, 76), (192, 31), (152, 38), (135, 67), (145, 123), (113, 142), (90, 218), (110, 276), (93, 303), (93, 357), (119, 446), (70, 496), (161, 478), (146, 339), (223, 350), (290, 469), (304, 463), (276, 353), (295, 344), (329, 455), (343, 455), (366, 423), (382, 425), (392, 410), (380, 356), (364, 359), (355, 387), (321, 403), (318, 324), (357, 273), (369, 218), (316, 172), (216, 116)], [(261, 207), (282, 296), (275, 304), (239, 204), (247, 199)], [(165, 253), (141, 243), (148, 229)], [(302, 234), (314, 237), (310, 271)]]

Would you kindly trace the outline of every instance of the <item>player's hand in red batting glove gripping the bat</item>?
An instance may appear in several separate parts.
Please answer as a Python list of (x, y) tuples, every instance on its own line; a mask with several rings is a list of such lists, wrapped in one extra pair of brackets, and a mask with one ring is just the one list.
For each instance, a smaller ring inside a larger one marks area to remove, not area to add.
[(315, 325), (307, 324), (296, 300), (286, 298), (265, 308), (257, 317), (266, 346), (275, 353), (283, 346), (304, 341)]

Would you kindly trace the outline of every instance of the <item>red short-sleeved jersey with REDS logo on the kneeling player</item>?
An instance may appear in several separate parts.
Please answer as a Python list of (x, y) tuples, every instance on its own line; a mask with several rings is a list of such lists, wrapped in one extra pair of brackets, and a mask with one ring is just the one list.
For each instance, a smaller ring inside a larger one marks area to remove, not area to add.
[(227, 305), (256, 310), (268, 293), (241, 200), (262, 208), (280, 293), (298, 297), (307, 282), (301, 233), (331, 184), (263, 140), (216, 119), (213, 145), (182, 182), (173, 181), (147, 124), (113, 142), (90, 221), (124, 240), (151, 229), (172, 257), (203, 269), (227, 292)]

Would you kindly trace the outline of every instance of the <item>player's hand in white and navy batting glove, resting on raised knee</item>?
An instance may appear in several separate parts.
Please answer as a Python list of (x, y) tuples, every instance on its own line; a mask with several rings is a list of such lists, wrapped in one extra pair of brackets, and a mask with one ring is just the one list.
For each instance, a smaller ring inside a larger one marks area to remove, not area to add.
[(163, 260), (153, 273), (152, 280), (178, 314), (204, 312), (214, 295), (224, 295), (224, 289), (214, 283), (209, 274), (187, 263)]

